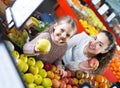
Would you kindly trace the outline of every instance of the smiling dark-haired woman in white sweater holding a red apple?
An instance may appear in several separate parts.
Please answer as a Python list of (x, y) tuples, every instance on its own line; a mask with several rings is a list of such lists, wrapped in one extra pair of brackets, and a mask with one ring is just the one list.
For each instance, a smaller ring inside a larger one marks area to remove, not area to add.
[[(80, 63), (96, 58), (99, 66), (96, 70), (88, 68), (88, 72), (101, 73), (115, 53), (115, 38), (109, 31), (100, 31), (95, 37), (88, 36), (85, 32), (74, 35), (68, 41), (68, 50), (62, 57), (64, 66), (72, 71), (80, 70)], [(85, 64), (82, 64), (85, 65)], [(84, 66), (83, 66), (84, 67)], [(58, 69), (61, 75), (66, 75), (59, 62)], [(85, 69), (86, 70), (86, 69)], [(84, 71), (84, 69), (82, 70)]]

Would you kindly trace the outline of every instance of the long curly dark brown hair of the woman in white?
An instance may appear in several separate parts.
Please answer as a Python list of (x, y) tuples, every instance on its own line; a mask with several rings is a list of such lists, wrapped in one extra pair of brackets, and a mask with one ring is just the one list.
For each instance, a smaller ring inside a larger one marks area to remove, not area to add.
[(94, 71), (95, 74), (101, 74), (101, 72), (108, 65), (109, 61), (113, 58), (116, 50), (115, 37), (113, 36), (113, 34), (106, 30), (100, 32), (105, 33), (105, 35), (108, 37), (109, 44), (106, 48), (108, 52), (104, 54), (100, 53), (96, 56), (96, 58), (99, 60), (99, 66), (98, 69)]

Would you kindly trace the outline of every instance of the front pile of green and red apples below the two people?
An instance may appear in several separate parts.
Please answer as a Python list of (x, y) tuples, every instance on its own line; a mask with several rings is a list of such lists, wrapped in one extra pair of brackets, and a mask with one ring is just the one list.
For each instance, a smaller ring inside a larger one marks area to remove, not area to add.
[[(93, 88), (98, 88), (100, 84), (100, 88), (109, 88), (109, 83), (103, 76), (97, 77), (81, 71), (66, 70), (67, 76), (62, 77), (57, 73), (56, 65), (19, 54), (16, 50), (11, 51), (11, 55), (28, 88), (79, 88), (85, 82)], [(103, 86), (105, 84), (107, 87)]]

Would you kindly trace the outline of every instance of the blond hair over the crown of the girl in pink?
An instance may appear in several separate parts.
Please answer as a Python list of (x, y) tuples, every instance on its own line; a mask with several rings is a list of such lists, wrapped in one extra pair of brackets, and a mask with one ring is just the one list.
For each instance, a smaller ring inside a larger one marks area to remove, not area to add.
[(71, 28), (74, 30), (74, 34), (77, 32), (77, 23), (74, 18), (71, 16), (63, 16), (56, 20), (56, 23), (61, 24), (61, 23), (68, 23), (71, 25)]

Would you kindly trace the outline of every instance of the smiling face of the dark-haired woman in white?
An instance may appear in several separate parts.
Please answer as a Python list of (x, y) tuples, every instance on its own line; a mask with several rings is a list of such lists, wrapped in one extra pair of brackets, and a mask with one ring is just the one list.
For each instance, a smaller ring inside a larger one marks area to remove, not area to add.
[(87, 45), (87, 51), (91, 54), (97, 55), (99, 53), (106, 53), (108, 50), (109, 40), (105, 33), (99, 33)]

